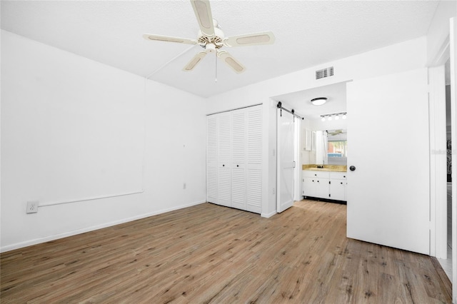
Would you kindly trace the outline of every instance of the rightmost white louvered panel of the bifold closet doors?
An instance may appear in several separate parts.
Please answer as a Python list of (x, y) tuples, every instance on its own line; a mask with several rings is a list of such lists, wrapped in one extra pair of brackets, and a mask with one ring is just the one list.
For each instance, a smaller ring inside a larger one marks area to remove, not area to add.
[(262, 211), (262, 106), (246, 108), (246, 210)]

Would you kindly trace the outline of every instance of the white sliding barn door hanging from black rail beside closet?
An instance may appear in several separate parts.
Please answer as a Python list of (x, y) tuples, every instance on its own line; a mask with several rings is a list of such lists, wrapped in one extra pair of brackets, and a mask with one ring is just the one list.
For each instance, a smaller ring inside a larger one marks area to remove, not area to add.
[(293, 205), (294, 136), (293, 115), (278, 109), (277, 127), (277, 207), (278, 213)]

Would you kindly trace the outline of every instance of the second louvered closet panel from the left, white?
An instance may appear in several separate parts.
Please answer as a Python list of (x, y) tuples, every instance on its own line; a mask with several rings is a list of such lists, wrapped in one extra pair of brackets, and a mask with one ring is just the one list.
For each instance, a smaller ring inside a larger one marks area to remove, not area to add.
[(219, 158), (217, 203), (231, 207), (231, 113), (220, 113), (217, 116)]

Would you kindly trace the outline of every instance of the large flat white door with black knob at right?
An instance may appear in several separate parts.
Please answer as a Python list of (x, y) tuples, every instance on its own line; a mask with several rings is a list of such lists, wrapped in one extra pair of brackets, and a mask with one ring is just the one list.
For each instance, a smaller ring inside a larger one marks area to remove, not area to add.
[(429, 254), (427, 70), (347, 84), (347, 235)]

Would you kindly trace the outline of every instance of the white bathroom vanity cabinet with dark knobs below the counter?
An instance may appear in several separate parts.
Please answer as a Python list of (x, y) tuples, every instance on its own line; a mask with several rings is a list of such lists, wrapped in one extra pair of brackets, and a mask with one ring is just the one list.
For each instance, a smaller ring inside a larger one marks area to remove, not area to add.
[(346, 201), (346, 172), (302, 171), (302, 195)]

